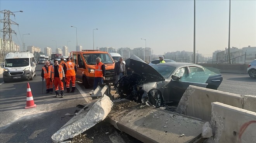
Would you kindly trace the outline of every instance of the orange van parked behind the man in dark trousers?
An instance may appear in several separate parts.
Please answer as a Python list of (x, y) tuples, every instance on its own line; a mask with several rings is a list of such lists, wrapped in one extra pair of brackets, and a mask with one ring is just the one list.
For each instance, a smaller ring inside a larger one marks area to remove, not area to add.
[(70, 53), (70, 60), (77, 66), (76, 80), (83, 82), (86, 89), (93, 85), (97, 57), (101, 58), (106, 67), (104, 83), (114, 83), (115, 63), (109, 53), (99, 50), (72, 51)]

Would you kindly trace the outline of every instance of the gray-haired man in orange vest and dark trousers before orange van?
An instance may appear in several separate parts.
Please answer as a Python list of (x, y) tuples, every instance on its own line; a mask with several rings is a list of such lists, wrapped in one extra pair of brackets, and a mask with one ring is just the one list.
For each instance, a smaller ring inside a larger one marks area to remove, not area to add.
[(103, 84), (105, 80), (106, 68), (104, 63), (101, 62), (100, 57), (96, 58), (95, 72), (94, 72), (94, 83), (93, 90), (95, 90), (98, 84)]

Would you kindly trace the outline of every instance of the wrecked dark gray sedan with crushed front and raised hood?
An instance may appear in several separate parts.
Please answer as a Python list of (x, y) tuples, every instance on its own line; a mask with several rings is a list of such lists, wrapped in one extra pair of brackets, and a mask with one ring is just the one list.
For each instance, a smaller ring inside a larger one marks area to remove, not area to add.
[(121, 98), (149, 102), (157, 107), (179, 102), (189, 85), (218, 89), (220, 73), (192, 63), (161, 63), (150, 66), (135, 55), (130, 57), (131, 75), (119, 79), (117, 91)]

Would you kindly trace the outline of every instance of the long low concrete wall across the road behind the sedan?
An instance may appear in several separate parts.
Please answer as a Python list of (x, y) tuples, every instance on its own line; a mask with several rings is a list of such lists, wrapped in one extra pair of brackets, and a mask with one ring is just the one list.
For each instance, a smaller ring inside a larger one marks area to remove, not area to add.
[(236, 73), (236, 74), (248, 74), (248, 64), (210, 64), (210, 63), (197, 63), (198, 65), (205, 67), (217, 68), (221, 73)]

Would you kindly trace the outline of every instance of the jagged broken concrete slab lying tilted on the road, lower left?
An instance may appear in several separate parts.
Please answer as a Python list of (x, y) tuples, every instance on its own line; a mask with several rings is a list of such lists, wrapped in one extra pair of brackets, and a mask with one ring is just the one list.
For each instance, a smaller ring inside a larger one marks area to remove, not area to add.
[(83, 133), (95, 124), (103, 121), (111, 111), (112, 106), (113, 103), (107, 95), (104, 95), (94, 104), (85, 106), (76, 116), (62, 126), (59, 131), (52, 135), (52, 141), (59, 143)]

